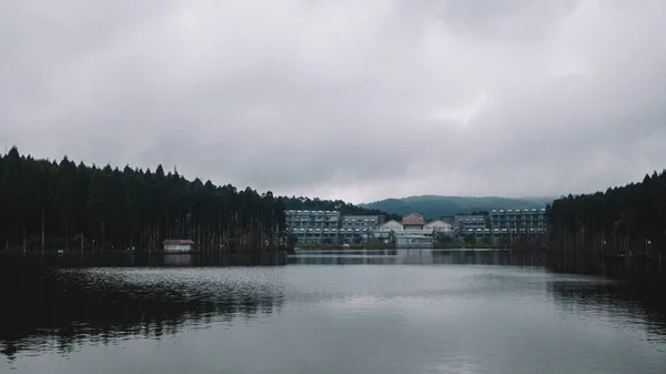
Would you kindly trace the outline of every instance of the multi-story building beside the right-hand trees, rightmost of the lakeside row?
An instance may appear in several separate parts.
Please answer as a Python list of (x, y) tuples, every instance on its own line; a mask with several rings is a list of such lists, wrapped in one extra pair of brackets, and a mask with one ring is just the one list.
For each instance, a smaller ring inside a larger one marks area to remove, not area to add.
[(545, 209), (494, 209), (488, 212), (493, 234), (542, 233), (546, 230)]

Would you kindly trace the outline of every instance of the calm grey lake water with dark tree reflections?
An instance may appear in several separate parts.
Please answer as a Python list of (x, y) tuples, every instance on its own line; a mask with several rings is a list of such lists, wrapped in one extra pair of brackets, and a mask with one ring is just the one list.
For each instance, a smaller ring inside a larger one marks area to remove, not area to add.
[(490, 252), (220, 263), (4, 266), (0, 373), (666, 372), (649, 283)]

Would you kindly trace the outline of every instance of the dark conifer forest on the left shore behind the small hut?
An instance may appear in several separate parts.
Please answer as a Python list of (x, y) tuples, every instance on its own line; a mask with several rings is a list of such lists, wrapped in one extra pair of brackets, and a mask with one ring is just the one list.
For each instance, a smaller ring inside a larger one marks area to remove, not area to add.
[(164, 239), (192, 239), (203, 251), (270, 250), (281, 241), (283, 210), (271, 192), (188, 181), (161, 165), (77, 165), (16, 148), (0, 158), (0, 250), (149, 251)]

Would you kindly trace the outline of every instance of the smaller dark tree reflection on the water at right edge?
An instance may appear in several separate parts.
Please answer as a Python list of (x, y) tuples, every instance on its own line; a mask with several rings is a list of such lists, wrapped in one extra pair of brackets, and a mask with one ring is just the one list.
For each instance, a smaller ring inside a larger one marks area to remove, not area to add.
[(566, 313), (594, 315), (645, 327), (649, 338), (666, 343), (666, 299), (654, 284), (575, 277), (551, 282), (547, 290)]

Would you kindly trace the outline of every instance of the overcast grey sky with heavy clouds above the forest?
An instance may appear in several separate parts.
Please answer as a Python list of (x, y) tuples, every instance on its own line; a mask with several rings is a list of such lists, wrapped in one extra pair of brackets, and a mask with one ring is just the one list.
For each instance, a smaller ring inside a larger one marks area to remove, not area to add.
[(0, 146), (352, 202), (666, 166), (663, 0), (2, 0)]

